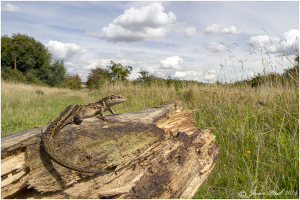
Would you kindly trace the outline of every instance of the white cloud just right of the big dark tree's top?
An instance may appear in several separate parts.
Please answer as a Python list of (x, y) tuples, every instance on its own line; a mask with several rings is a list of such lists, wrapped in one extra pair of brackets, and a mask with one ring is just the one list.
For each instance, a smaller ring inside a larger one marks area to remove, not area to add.
[(83, 54), (88, 51), (86, 48), (73, 43), (62, 43), (53, 40), (50, 40), (46, 47), (55, 58), (72, 58), (77, 54)]

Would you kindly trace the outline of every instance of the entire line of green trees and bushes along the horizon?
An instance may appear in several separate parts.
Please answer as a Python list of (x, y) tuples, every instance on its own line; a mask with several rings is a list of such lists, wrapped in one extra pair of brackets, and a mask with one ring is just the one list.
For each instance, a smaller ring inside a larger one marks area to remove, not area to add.
[[(273, 73), (258, 74), (251, 80), (237, 81), (234, 84), (246, 84), (256, 87), (265, 82), (287, 82), (299, 78), (299, 55), (295, 56), (295, 65), (285, 70), (283, 75)], [(97, 89), (109, 81), (126, 82), (131, 74), (132, 66), (110, 62), (110, 66), (95, 66), (88, 75), (86, 86)], [(165, 79), (151, 75), (140, 69), (138, 78), (132, 82), (150, 86), (152, 83), (171, 86), (176, 90), (188, 84), (204, 84), (196, 81), (180, 81), (167, 76)], [(1, 36), (1, 78), (30, 84), (48, 85), (51, 87), (81, 88), (81, 78), (76, 74), (67, 73), (63, 60), (53, 60), (53, 54), (41, 42), (23, 34), (12, 34), (11, 37)], [(295, 81), (294, 81), (295, 82)], [(217, 84), (221, 84), (218, 83)]]

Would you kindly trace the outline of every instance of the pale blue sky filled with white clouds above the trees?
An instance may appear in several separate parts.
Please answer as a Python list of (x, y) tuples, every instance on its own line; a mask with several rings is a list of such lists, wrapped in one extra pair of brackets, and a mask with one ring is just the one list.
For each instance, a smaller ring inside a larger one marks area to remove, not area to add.
[(234, 82), (292, 67), (298, 1), (1, 1), (1, 35), (43, 43), (87, 81), (110, 61), (157, 77)]

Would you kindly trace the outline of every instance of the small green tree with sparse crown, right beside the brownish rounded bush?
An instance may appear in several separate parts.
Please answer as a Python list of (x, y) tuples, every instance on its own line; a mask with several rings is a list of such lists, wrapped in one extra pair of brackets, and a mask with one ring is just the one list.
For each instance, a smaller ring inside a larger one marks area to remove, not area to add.
[(123, 66), (121, 63), (116, 64), (113, 61), (110, 61), (111, 66), (106, 66), (111, 72), (111, 80), (127, 80), (128, 76), (132, 71), (131, 66)]

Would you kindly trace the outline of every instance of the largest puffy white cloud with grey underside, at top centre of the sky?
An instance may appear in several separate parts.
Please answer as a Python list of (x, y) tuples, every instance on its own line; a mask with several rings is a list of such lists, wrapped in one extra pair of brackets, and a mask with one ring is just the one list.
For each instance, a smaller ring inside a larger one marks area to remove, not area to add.
[(130, 8), (102, 29), (101, 39), (112, 42), (145, 42), (164, 37), (176, 21), (173, 12), (164, 13), (161, 3), (155, 2), (140, 9)]

